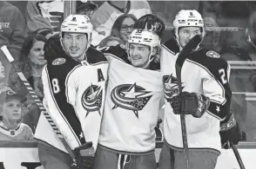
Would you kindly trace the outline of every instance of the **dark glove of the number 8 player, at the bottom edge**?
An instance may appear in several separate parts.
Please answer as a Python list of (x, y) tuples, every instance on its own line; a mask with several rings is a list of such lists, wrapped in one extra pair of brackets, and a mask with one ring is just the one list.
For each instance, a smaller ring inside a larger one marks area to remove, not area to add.
[(82, 146), (75, 148), (77, 156), (77, 169), (93, 169), (95, 150), (92, 142), (86, 142)]

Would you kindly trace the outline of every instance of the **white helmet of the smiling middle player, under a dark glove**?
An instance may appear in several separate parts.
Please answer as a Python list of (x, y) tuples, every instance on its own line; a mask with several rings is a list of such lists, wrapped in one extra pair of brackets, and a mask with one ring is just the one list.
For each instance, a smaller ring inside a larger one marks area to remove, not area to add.
[(157, 50), (157, 47), (160, 46), (160, 38), (153, 31), (149, 31), (149, 30), (145, 30), (145, 29), (134, 29), (131, 32), (131, 35), (129, 36), (129, 39), (128, 39), (128, 47), (127, 47), (128, 56), (130, 56), (129, 55), (129, 44), (130, 43), (142, 44), (142, 45), (146, 45), (146, 46), (150, 47), (151, 53), (149, 55), (149, 61), (145, 65), (145, 67), (146, 67), (154, 59), (152, 54), (153, 54), (153, 51)]

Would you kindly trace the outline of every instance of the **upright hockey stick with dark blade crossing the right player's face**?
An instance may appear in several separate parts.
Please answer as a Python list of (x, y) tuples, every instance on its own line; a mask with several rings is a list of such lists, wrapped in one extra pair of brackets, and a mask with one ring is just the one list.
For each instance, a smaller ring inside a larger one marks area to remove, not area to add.
[[(179, 94), (182, 93), (182, 83), (181, 83), (181, 68), (185, 62), (186, 57), (192, 52), (193, 49), (196, 49), (199, 45), (199, 42), (202, 41), (201, 36), (194, 36), (190, 42), (185, 45), (185, 48), (181, 50), (178, 55), (177, 61), (175, 63), (176, 69), (176, 78), (179, 87)], [(184, 156), (185, 156), (185, 169), (189, 169), (189, 158), (188, 158), (188, 144), (187, 144), (187, 135), (185, 127), (185, 114), (180, 114), (180, 123), (181, 123), (181, 132), (182, 140), (184, 147)]]

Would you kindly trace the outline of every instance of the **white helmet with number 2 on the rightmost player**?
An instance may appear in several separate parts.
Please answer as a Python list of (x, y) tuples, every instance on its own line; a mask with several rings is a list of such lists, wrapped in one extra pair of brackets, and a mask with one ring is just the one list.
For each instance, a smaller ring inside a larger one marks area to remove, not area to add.
[(202, 28), (202, 38), (205, 36), (204, 20), (198, 10), (180, 10), (173, 21), (174, 34), (179, 43), (180, 27), (200, 27)]

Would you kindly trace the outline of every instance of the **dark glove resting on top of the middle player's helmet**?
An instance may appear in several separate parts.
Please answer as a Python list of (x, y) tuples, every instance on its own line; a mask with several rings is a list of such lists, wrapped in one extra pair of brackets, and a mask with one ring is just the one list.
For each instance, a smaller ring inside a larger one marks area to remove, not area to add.
[(138, 19), (134, 23), (134, 29), (152, 29), (160, 38), (165, 36), (166, 24), (165, 21), (158, 16), (147, 14)]

